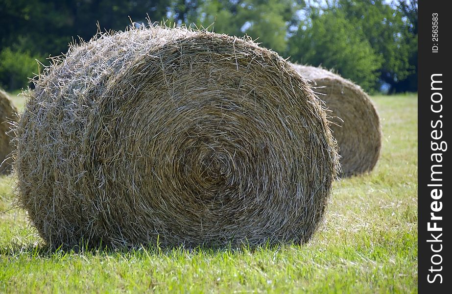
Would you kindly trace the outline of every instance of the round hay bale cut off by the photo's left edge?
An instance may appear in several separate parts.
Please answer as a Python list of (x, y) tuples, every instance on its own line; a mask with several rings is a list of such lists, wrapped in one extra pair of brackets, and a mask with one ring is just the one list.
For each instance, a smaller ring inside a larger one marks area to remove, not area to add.
[(11, 172), (13, 158), (11, 152), (14, 145), (11, 144), (10, 131), (11, 122), (16, 121), (17, 108), (9, 99), (6, 92), (0, 89), (0, 174)]

